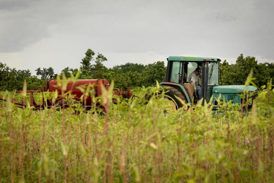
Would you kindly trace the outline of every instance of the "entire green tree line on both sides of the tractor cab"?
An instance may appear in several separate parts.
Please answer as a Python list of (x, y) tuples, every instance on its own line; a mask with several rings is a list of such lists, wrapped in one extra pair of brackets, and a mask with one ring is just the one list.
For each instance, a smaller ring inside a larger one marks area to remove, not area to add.
[[(104, 66), (108, 61), (101, 53), (95, 54), (91, 49), (87, 49), (85, 56), (80, 61), (81, 70), (79, 79), (100, 79), (114, 81), (117, 88), (134, 88), (141, 86), (155, 85), (156, 80), (163, 81), (166, 75), (164, 61), (157, 61), (153, 64), (143, 65), (137, 63), (126, 63), (115, 65), (112, 68)], [(226, 60), (219, 63), (223, 85), (243, 85), (250, 70), (253, 70), (257, 86), (265, 85), (270, 78), (274, 77), (273, 63), (258, 63), (255, 57), (244, 57), (241, 54), (235, 64), (229, 64)], [(47, 78), (54, 74), (52, 67), (37, 68), (35, 75), (31, 75), (29, 69), (11, 69), (6, 64), (0, 62), (0, 91), (14, 89), (21, 90), (26, 80), (27, 88), (35, 90), (43, 88)], [(71, 74), (76, 75), (78, 69), (65, 67), (62, 73), (68, 78)], [(220, 83), (221, 84), (221, 83)]]

